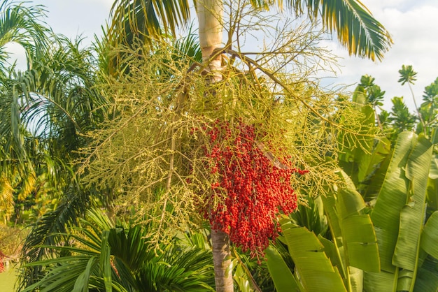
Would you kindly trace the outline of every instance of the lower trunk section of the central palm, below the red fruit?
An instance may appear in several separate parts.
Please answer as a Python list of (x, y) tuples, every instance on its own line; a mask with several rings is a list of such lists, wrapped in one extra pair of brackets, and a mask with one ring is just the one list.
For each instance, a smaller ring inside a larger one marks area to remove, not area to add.
[(233, 275), (231, 253), (229, 251), (229, 236), (222, 231), (211, 231), (213, 243), (213, 265), (217, 292), (233, 292)]

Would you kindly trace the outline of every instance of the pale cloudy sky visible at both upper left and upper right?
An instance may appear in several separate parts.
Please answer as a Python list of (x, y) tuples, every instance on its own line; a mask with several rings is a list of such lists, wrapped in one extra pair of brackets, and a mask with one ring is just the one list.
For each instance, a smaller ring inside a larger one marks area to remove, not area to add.
[[(108, 20), (113, 0), (34, 0), (47, 10), (46, 22), (57, 34), (69, 38), (85, 37), (85, 43), (101, 34), (101, 25)], [(412, 65), (418, 72), (413, 87), (418, 104), (424, 87), (438, 77), (438, 1), (437, 0), (362, 0), (374, 17), (390, 32), (394, 44), (383, 61), (371, 61), (348, 56), (334, 37), (323, 45), (340, 57), (340, 71), (333, 84), (349, 85), (350, 90), (362, 75), (372, 75), (375, 83), (386, 91), (385, 108), (390, 110), (390, 98), (404, 96), (409, 108), (414, 108), (407, 85), (397, 82), (402, 65)]]

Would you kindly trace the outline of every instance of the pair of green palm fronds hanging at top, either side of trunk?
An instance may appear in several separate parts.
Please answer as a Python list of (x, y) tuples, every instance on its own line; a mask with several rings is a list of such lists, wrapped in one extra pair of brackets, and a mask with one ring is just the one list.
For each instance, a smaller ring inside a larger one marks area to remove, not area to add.
[[(283, 1), (252, 0), (251, 3), (263, 10), (269, 10), (274, 5), (283, 8)], [(339, 41), (350, 54), (381, 60), (392, 44), (388, 31), (360, 1), (288, 0), (285, 6), (295, 15), (308, 15), (311, 20), (316, 20), (319, 15), (330, 33), (337, 31)], [(190, 21), (189, 8), (187, 0), (115, 1), (108, 34), (110, 43), (132, 43), (134, 36), (161, 38), (168, 31), (175, 36), (176, 28)]]

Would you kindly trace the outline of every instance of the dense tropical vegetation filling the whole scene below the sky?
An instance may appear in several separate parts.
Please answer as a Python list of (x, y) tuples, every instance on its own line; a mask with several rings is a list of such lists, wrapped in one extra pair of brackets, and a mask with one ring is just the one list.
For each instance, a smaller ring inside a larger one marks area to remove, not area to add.
[[(371, 76), (352, 96), (322, 89), (318, 13), (351, 53), (390, 45), (341, 2), (288, 1), (308, 13), (297, 22), (260, 13), (277, 1), (198, 1), (199, 38), (176, 38), (187, 1), (120, 0), (84, 48), (41, 6), (3, 1), (0, 259), (29, 228), (17, 289), (434, 291), (438, 79), (414, 113), (402, 97), (383, 110)], [(251, 29), (274, 41), (247, 54)], [(399, 73), (414, 86), (411, 66)]]

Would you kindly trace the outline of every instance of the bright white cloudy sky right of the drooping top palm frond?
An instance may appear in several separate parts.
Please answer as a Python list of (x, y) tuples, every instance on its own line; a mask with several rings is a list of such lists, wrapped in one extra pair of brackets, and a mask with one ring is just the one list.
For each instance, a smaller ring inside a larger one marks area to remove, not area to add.
[[(425, 86), (438, 77), (438, 1), (366, 1), (365, 5), (388, 29), (393, 37), (393, 48), (386, 53), (381, 63), (349, 57), (344, 48), (331, 45), (341, 57), (341, 73), (337, 82), (351, 84), (358, 82), (361, 75), (369, 74), (386, 91), (386, 108), (390, 109), (390, 98), (404, 96), (407, 104), (414, 108), (409, 88), (398, 82), (398, 70), (402, 65), (412, 65), (418, 72), (414, 85), (417, 103)], [(352, 90), (354, 87), (350, 87)]]

